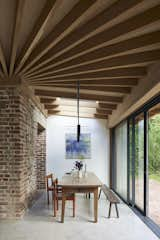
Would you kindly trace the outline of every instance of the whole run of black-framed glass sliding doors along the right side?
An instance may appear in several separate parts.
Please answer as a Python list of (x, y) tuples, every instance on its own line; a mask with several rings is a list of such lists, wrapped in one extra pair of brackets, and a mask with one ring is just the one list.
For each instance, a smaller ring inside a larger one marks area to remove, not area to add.
[(114, 190), (149, 218), (146, 219), (151, 228), (157, 229), (160, 227), (160, 96), (115, 127), (114, 139)]

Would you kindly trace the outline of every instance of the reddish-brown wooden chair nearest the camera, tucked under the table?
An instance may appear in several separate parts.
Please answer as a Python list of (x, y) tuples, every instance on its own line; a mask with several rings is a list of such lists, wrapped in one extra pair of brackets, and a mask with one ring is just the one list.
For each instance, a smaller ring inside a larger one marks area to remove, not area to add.
[[(53, 181), (53, 211), (54, 217), (56, 217), (56, 211), (58, 210), (58, 202), (62, 200), (62, 188), (58, 185), (58, 179)], [(66, 195), (67, 201), (73, 202), (73, 217), (75, 217), (75, 193), (68, 193)]]

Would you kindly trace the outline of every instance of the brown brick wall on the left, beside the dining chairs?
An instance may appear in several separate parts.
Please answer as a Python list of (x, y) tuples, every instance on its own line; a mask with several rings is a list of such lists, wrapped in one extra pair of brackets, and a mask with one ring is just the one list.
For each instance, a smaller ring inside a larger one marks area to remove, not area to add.
[(0, 218), (22, 216), (44, 186), (45, 134), (39, 153), (37, 112), (20, 87), (0, 88)]

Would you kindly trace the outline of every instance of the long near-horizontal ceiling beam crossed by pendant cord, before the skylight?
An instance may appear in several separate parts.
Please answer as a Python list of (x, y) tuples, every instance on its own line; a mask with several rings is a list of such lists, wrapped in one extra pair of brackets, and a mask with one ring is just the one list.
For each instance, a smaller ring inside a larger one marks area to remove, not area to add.
[[(76, 92), (64, 92), (64, 91), (51, 91), (51, 90), (41, 90), (35, 89), (35, 95), (40, 97), (63, 97), (63, 98), (77, 98)], [(95, 101), (105, 101), (105, 102), (113, 102), (120, 103), (123, 101), (123, 97), (117, 96), (106, 96), (106, 95), (96, 95), (96, 94), (86, 94), (80, 93), (80, 99), (84, 100), (95, 100)]]

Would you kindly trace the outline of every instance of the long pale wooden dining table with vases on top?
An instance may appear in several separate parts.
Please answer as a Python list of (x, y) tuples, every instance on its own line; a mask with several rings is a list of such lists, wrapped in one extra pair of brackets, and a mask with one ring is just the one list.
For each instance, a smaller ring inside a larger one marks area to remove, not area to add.
[(94, 194), (94, 222), (98, 218), (98, 188), (102, 186), (102, 182), (93, 172), (87, 172), (82, 178), (76, 177), (75, 174), (65, 175), (59, 181), (62, 187), (62, 212), (61, 222), (64, 222), (65, 201), (68, 193), (93, 193)]

